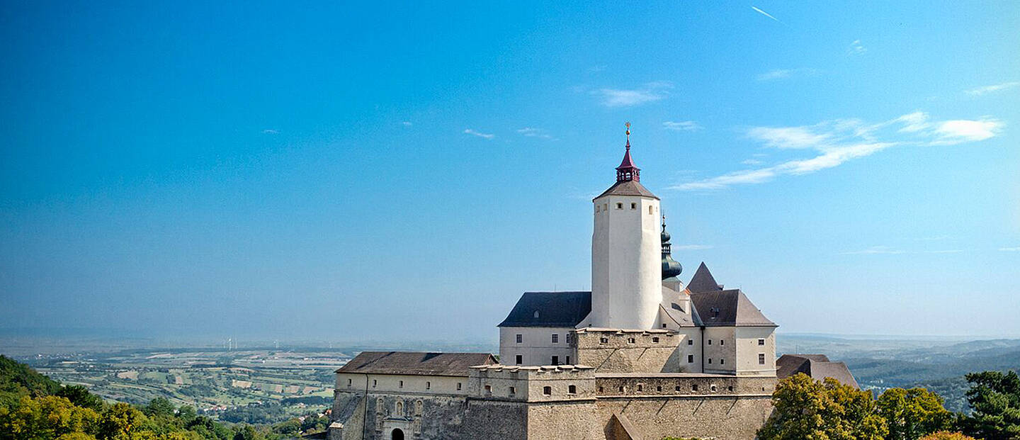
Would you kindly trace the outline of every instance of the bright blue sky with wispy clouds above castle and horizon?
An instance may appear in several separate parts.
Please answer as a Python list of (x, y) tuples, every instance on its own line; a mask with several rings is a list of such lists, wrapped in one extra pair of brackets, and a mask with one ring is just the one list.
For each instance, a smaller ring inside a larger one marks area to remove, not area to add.
[(19, 2), (0, 328), (493, 340), (633, 124), (686, 280), (1020, 335), (1020, 3)]

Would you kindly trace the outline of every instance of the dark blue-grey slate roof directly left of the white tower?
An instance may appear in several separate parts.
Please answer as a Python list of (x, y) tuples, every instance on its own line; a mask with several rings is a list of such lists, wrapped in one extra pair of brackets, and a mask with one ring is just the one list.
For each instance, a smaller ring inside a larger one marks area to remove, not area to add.
[(592, 292), (524, 292), (499, 327), (575, 327), (590, 312)]

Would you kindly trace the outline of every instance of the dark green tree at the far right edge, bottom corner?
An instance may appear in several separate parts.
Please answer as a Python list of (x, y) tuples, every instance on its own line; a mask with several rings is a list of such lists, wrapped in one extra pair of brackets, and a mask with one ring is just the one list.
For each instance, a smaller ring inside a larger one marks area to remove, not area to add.
[(964, 432), (985, 440), (1020, 438), (1020, 377), (1016, 372), (971, 373), (967, 382), (972, 411), (961, 421)]

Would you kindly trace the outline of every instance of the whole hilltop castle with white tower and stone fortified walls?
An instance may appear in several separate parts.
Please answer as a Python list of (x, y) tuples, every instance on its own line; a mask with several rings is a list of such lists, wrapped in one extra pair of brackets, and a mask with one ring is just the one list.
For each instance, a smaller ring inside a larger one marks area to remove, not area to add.
[(498, 359), (360, 353), (337, 371), (330, 440), (754, 438), (777, 326), (705, 263), (676, 278), (626, 135), (616, 183), (593, 200), (592, 291), (525, 292)]

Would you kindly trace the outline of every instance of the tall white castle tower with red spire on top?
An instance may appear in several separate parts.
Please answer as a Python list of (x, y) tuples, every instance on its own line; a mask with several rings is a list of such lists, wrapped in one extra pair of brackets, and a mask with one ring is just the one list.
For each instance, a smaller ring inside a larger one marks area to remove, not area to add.
[(616, 184), (593, 200), (592, 327), (649, 330), (662, 302), (659, 198), (630, 159), (630, 123)]

